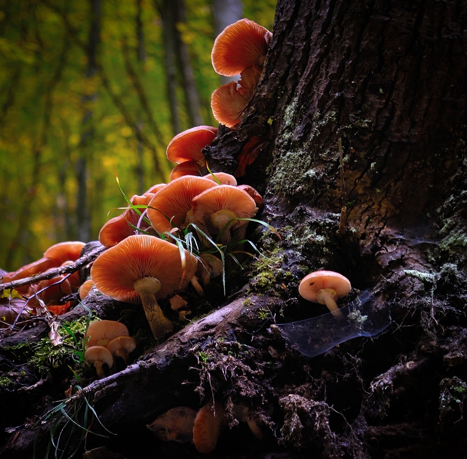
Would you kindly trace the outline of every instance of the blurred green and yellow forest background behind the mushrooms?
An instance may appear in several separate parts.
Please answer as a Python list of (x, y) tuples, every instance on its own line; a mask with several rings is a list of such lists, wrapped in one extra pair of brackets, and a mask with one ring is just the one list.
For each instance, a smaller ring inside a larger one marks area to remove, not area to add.
[(244, 17), (272, 31), (275, 6), (0, 0), (0, 268), (97, 239), (126, 206), (115, 173), (128, 196), (166, 182), (172, 137), (218, 125), (215, 36)]

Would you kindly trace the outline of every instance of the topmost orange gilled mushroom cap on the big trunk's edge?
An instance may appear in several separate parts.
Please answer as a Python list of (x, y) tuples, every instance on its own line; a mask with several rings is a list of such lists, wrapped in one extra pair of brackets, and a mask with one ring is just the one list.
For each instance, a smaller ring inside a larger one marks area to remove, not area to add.
[(272, 34), (249, 19), (227, 26), (216, 38), (211, 61), (214, 70), (235, 76), (252, 65), (263, 65)]

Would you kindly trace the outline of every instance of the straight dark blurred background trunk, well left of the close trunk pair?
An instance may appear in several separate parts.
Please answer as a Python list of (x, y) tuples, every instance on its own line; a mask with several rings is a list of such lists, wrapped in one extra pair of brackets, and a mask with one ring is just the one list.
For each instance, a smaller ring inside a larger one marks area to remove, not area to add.
[[(90, 0), (90, 31), (88, 42), (88, 67), (86, 78), (93, 77), (97, 72), (97, 48), (100, 42), (101, 0)], [(86, 109), (83, 117), (83, 131), (79, 143), (79, 158), (75, 163), (78, 193), (76, 196), (76, 226), (77, 238), (88, 242), (91, 238), (91, 217), (88, 204), (88, 159), (92, 156), (92, 138), (94, 136), (92, 102), (98, 97), (97, 93), (84, 95), (81, 101)]]

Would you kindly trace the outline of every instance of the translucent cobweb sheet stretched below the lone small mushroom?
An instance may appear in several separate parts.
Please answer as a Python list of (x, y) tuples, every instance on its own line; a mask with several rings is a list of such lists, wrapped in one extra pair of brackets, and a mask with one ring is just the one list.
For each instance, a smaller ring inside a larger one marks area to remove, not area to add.
[(377, 304), (368, 291), (342, 307), (341, 312), (345, 317), (343, 320), (336, 320), (329, 313), (272, 327), (279, 329), (293, 349), (307, 357), (315, 357), (349, 339), (375, 336), (391, 323), (389, 307)]

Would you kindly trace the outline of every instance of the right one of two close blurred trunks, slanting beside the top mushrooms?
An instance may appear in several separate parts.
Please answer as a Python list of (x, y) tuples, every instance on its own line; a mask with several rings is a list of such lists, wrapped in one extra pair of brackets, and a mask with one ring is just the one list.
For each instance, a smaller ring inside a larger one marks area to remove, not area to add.
[(196, 87), (193, 67), (190, 61), (190, 54), (188, 53), (188, 46), (183, 41), (180, 30), (178, 29), (178, 24), (186, 23), (185, 2), (184, 0), (176, 0), (175, 5), (177, 9), (177, 54), (180, 61), (180, 71), (183, 80), (183, 89), (186, 96), (186, 105), (188, 108), (191, 125), (200, 126), (203, 124), (203, 119), (200, 114), (201, 104), (199, 102), (198, 88)]

